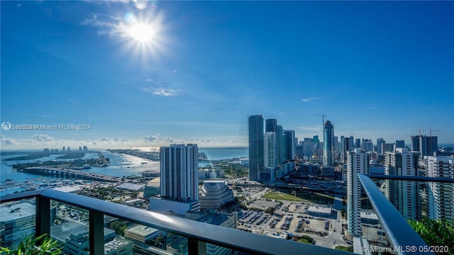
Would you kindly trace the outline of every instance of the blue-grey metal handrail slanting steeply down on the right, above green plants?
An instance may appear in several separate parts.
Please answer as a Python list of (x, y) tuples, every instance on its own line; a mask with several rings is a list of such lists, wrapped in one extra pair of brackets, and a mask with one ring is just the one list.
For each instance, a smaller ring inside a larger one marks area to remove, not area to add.
[[(373, 175), (375, 177), (375, 175)], [(381, 176), (382, 177), (382, 176)], [(389, 176), (385, 176), (389, 177)], [(382, 179), (393, 179), (382, 178)], [(399, 176), (399, 180), (411, 181), (411, 179), (404, 179)], [(428, 245), (421, 239), (414, 229), (409, 225), (400, 212), (392, 205), (392, 203), (384, 196), (382, 191), (375, 185), (375, 183), (365, 174), (358, 174), (362, 188), (364, 188), (367, 197), (372, 204), (377, 217), (380, 220), (384, 231), (388, 234), (389, 242), (399, 249), (399, 254), (434, 254), (427, 251)], [(414, 250), (416, 248), (416, 250)], [(422, 252), (421, 252), (422, 251)]]

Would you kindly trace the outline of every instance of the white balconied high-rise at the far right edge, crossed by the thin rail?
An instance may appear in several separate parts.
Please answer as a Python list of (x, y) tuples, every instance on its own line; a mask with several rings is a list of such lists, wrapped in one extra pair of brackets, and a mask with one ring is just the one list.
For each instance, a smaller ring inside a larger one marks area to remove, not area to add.
[[(453, 157), (427, 156), (427, 176), (454, 178)], [(453, 183), (428, 183), (428, 216), (433, 220), (454, 220), (451, 201), (454, 198)]]

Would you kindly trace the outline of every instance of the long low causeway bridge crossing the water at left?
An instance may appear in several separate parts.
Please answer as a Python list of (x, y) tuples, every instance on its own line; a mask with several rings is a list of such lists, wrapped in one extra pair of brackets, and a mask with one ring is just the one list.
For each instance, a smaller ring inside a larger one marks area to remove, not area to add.
[(92, 181), (109, 181), (121, 182), (121, 178), (114, 176), (106, 176), (104, 174), (95, 174), (87, 171), (79, 171), (72, 169), (43, 169), (39, 167), (28, 167), (22, 169), (24, 173), (39, 174), (44, 176), (55, 176), (62, 179), (79, 179), (79, 180), (92, 180)]

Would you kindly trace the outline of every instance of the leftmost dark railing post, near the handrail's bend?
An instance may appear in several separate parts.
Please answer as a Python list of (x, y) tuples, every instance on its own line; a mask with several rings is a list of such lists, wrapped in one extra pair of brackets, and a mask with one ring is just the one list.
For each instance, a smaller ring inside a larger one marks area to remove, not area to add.
[[(50, 237), (50, 199), (43, 196), (36, 196), (35, 214), (35, 236), (48, 234)], [(41, 244), (43, 239), (38, 241)]]

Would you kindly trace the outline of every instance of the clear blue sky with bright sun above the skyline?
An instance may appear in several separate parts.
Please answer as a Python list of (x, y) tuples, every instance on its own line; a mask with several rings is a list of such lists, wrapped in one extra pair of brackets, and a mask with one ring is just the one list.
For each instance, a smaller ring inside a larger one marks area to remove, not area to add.
[[(145, 28), (145, 30), (140, 30)], [(299, 139), (454, 143), (454, 2), (1, 1), (1, 149), (247, 145), (247, 117)]]

